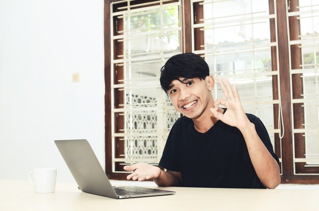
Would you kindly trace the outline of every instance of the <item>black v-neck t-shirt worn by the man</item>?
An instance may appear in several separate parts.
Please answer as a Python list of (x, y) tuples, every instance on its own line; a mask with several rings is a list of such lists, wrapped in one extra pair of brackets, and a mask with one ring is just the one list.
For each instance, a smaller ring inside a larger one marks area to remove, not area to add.
[[(247, 117), (279, 163), (261, 120), (252, 114)], [(191, 119), (180, 117), (170, 131), (159, 165), (181, 172), (184, 187), (265, 188), (252, 166), (241, 131), (221, 120), (206, 133), (199, 133)]]

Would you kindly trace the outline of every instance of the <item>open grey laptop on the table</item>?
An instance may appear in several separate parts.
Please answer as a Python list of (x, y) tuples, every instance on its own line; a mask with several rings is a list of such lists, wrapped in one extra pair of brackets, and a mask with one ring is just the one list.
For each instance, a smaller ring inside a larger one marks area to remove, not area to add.
[(55, 140), (55, 143), (78, 188), (85, 193), (114, 199), (175, 194), (136, 186), (113, 187), (87, 140)]

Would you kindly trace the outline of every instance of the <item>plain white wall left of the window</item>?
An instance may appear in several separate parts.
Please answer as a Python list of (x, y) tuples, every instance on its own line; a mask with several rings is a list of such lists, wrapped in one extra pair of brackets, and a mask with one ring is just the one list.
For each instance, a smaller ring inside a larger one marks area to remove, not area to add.
[(74, 181), (57, 139), (88, 139), (104, 167), (103, 55), (102, 0), (0, 1), (0, 179)]

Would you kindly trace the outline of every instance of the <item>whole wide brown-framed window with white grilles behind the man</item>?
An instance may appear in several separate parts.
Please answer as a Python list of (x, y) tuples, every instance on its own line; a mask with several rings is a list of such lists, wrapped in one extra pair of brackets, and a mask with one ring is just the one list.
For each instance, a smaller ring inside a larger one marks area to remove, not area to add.
[[(319, 182), (318, 5), (105, 1), (108, 176), (125, 178), (123, 165), (158, 163), (179, 117), (161, 90), (159, 69), (171, 56), (192, 51), (212, 75), (236, 84), (245, 111), (263, 121), (280, 157), (282, 181)], [(223, 97), (219, 88), (212, 94)]]

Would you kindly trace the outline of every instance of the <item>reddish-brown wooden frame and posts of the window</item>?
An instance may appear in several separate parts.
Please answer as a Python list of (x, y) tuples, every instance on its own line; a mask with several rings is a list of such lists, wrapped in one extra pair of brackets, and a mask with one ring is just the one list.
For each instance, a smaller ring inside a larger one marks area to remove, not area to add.
[[(147, 1), (147, 0), (145, 0)], [(105, 82), (105, 96), (104, 96), (104, 104), (105, 104), (105, 172), (107, 176), (111, 179), (126, 179), (127, 173), (114, 173), (112, 170), (112, 134), (111, 134), (111, 19), (110, 19), (110, 5), (112, 2), (118, 2), (118, 0), (104, 0), (104, 82)], [(275, 152), (281, 156), (282, 159), (282, 183), (319, 183), (319, 175), (295, 175), (294, 174), (294, 153), (293, 153), (293, 120), (291, 117), (291, 112), (294, 112), (294, 125), (295, 128), (303, 128), (303, 117), (304, 111), (300, 109), (300, 106), (294, 105), (293, 111), (291, 109), (291, 98), (290, 98), (290, 75), (289, 75), (289, 46), (288, 46), (288, 36), (290, 38), (296, 38), (299, 34), (299, 22), (296, 21), (296, 18), (293, 19), (289, 17), (290, 25), (295, 25), (294, 30), (290, 28), (290, 34), (287, 34), (287, 14), (286, 14), (286, 0), (277, 0), (276, 7), (273, 3), (273, 0), (269, 1), (270, 6), (270, 14), (274, 14), (274, 9), (276, 8), (277, 13), (277, 43), (278, 43), (278, 59), (279, 59), (279, 78), (280, 78), (280, 91), (281, 91), (281, 105), (282, 105), (282, 118), (284, 124), (284, 136), (281, 139), (275, 138)], [(298, 4), (298, 0), (289, 1), (290, 8), (296, 8)], [(197, 15), (201, 14), (202, 8), (201, 6), (194, 7), (196, 11), (194, 11)], [(191, 32), (191, 2), (190, 0), (181, 1), (181, 14), (182, 14), (182, 37), (183, 42), (181, 44), (182, 52), (191, 52), (192, 51), (192, 32)], [(113, 20), (112, 20), (113, 21)], [(275, 29), (275, 21), (270, 22), (270, 27), (272, 32)], [(197, 39), (195, 40), (195, 49), (200, 49), (199, 46), (203, 43), (203, 37), (199, 31), (195, 31)], [(275, 33), (271, 34), (271, 40), (276, 40)], [(298, 46), (291, 46), (291, 67), (299, 67), (301, 64), (301, 50)], [(119, 52), (123, 51), (120, 45), (114, 46), (114, 51)], [(116, 54), (115, 54), (116, 55)], [(276, 56), (276, 47), (272, 47), (272, 67), (273, 69), (277, 69), (277, 58)], [(123, 71), (123, 70), (122, 70)], [(120, 77), (121, 74), (117, 74), (117, 77)], [(117, 80), (121, 78), (116, 78)], [(277, 84), (278, 78), (276, 76), (273, 77), (273, 84)], [(293, 80), (293, 96), (294, 98), (298, 98), (302, 94), (303, 84), (300, 79), (300, 75), (295, 75), (291, 77)], [(276, 86), (273, 86), (276, 87)], [(277, 89), (277, 88), (276, 88)], [(274, 89), (274, 96), (278, 96), (278, 90)], [(288, 90), (288, 91), (287, 91)], [(116, 97), (116, 103), (120, 103), (123, 100), (121, 97)], [(277, 108), (276, 108), (277, 107)], [(298, 114), (298, 115), (296, 115)], [(274, 117), (278, 118), (278, 106), (274, 105)], [(116, 117), (121, 118), (121, 117)], [(120, 121), (117, 121), (120, 122)], [(124, 122), (124, 121), (123, 121)], [(278, 123), (275, 122), (275, 127), (278, 128)], [(123, 125), (115, 125), (115, 128), (123, 128)], [(277, 136), (278, 137), (278, 136)], [(295, 135), (295, 139), (302, 140), (297, 145), (295, 154), (298, 157), (304, 156), (305, 148), (304, 148), (304, 137), (302, 134)], [(122, 144), (119, 144), (122, 143)], [(297, 143), (297, 142), (296, 142)], [(124, 153), (124, 144), (123, 142), (117, 142), (117, 147), (115, 150), (116, 154)], [(299, 167), (298, 167), (299, 166)], [(304, 165), (298, 164), (296, 168), (302, 169)], [(116, 167), (121, 168), (121, 167)], [(317, 171), (318, 169), (310, 169), (309, 172)]]

